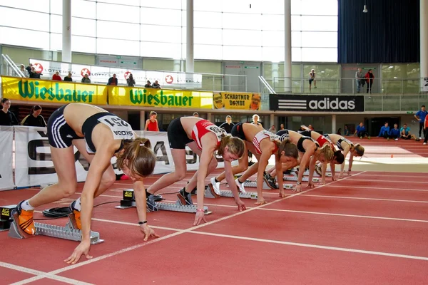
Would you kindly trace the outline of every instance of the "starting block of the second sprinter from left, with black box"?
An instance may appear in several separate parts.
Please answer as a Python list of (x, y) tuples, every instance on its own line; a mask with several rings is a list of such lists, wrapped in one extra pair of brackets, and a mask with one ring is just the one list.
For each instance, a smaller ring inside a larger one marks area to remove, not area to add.
[[(116, 209), (128, 209), (131, 207), (136, 207), (136, 199), (132, 189), (123, 190), (123, 199), (121, 200), (121, 205), (116, 206)], [(159, 210), (163, 211), (173, 211), (173, 212), (185, 212), (185, 213), (196, 213), (198, 207), (196, 205), (182, 205), (180, 202), (166, 203), (166, 202), (156, 202), (156, 207)], [(211, 214), (213, 212), (208, 211), (208, 207), (203, 207), (204, 214)], [(151, 212), (147, 209), (147, 212)]]

